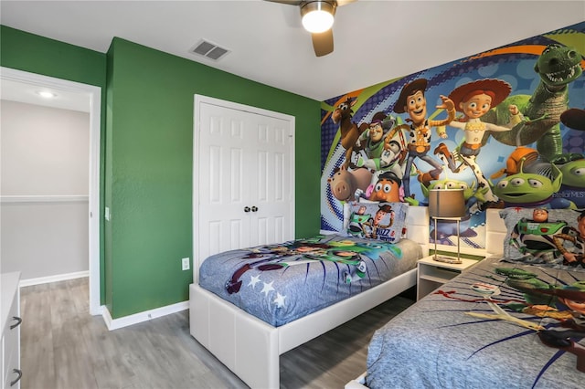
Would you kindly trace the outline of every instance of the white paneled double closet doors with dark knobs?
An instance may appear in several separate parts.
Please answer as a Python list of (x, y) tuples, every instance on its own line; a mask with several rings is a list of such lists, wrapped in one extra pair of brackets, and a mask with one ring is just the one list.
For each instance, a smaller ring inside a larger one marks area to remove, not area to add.
[(196, 95), (194, 256), (294, 237), (294, 118)]

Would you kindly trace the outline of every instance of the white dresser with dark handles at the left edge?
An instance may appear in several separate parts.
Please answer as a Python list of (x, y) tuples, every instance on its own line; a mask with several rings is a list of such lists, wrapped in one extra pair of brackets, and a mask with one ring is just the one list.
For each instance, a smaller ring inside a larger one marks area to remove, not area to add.
[(2, 389), (20, 388), (20, 272), (2, 273)]

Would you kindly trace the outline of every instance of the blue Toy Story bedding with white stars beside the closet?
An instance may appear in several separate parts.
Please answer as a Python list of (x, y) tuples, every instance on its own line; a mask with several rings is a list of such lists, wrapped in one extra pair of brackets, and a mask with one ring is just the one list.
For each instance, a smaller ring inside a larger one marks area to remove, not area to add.
[(219, 253), (199, 268), (199, 285), (282, 326), (416, 268), (418, 243), (341, 235)]

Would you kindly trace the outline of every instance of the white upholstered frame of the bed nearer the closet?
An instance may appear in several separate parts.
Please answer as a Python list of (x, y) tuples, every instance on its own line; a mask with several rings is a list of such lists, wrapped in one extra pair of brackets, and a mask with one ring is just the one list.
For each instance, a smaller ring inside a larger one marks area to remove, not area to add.
[[(429, 255), (429, 213), (410, 206), (408, 237)], [(202, 261), (204, 258), (201, 258)], [(194, 267), (198, 268), (200, 263)], [(416, 284), (416, 268), (394, 279), (280, 327), (272, 327), (198, 286), (189, 287), (191, 335), (251, 388), (278, 388), (279, 356), (371, 310)]]

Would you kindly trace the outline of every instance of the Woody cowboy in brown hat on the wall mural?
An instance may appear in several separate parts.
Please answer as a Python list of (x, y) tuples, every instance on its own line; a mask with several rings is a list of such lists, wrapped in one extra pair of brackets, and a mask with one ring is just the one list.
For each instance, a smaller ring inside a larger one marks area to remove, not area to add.
[(424, 92), (427, 89), (426, 79), (415, 79), (406, 84), (400, 91), (399, 99), (394, 104), (396, 113), (408, 113), (406, 120), (410, 124), (401, 124), (388, 132), (388, 139), (391, 139), (398, 131), (409, 131), (410, 141), (407, 145), (409, 156), (406, 161), (402, 184), (404, 186), (404, 197), (410, 197), (410, 170), (415, 158), (431, 164), (433, 169), (428, 173), (420, 173), (420, 183), (428, 186), (431, 180), (436, 180), (442, 172), (442, 165), (439, 161), (427, 155), (431, 148), (431, 127), (437, 127), (437, 133), (441, 138), (446, 138), (447, 133), (444, 126), (455, 119), (455, 105), (448, 97), (441, 95), (442, 104), (438, 109), (447, 110), (447, 119), (442, 121), (430, 121), (427, 119), (427, 100)]

